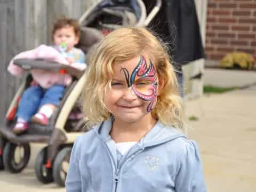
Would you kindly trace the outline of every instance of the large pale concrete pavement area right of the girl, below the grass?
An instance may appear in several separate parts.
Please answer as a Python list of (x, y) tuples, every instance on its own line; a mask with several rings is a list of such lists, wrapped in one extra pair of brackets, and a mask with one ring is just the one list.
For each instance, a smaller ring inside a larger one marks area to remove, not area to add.
[(208, 191), (256, 189), (256, 86), (187, 102), (189, 137), (198, 142)]

